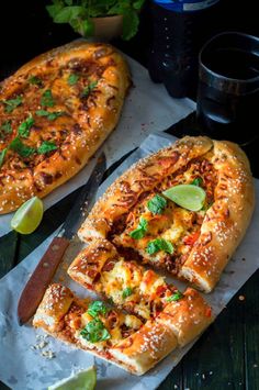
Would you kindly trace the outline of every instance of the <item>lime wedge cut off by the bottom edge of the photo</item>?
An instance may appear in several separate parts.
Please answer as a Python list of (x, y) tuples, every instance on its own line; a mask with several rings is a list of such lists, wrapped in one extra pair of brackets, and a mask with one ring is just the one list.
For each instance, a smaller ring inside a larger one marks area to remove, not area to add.
[(93, 390), (97, 385), (97, 369), (94, 366), (61, 379), (48, 387), (48, 390)]

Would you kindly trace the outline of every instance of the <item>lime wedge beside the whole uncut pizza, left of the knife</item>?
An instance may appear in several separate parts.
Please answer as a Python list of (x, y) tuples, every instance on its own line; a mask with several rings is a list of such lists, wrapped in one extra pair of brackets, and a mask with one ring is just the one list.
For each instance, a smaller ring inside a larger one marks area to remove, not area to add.
[(22, 234), (34, 232), (43, 218), (43, 202), (37, 197), (23, 203), (11, 220), (11, 227)]

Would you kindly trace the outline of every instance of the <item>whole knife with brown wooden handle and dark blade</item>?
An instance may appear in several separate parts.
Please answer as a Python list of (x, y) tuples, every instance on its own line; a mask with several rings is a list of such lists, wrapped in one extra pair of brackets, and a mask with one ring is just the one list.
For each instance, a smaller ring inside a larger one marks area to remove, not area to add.
[(18, 304), (18, 322), (20, 325), (23, 325), (33, 316), (41, 303), (70, 239), (77, 234), (79, 226), (94, 203), (94, 196), (105, 169), (106, 159), (104, 153), (102, 153), (98, 158), (89, 180), (82, 186), (57, 236), (53, 238), (20, 297)]

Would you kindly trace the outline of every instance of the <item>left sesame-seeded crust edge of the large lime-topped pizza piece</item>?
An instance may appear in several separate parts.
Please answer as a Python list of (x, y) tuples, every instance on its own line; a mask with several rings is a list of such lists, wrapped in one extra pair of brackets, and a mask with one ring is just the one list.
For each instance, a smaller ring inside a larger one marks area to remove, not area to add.
[(191, 159), (212, 148), (207, 137), (184, 137), (126, 170), (95, 203), (78, 235), (82, 241), (106, 238), (113, 222), (128, 212), (139, 197), (151, 190), (165, 177), (184, 167)]

